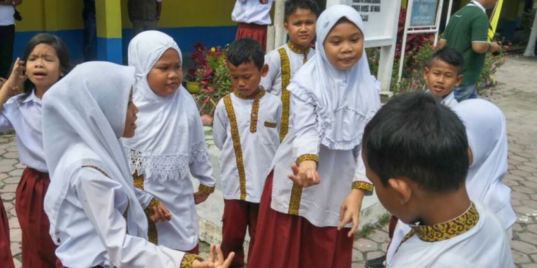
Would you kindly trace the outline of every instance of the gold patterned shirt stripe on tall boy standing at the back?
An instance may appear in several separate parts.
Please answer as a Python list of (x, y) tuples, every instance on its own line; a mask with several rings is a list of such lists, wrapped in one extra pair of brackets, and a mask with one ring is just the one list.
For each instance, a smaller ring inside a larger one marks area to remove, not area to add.
[(291, 65), (284, 47), (280, 47), (278, 53), (280, 54), (282, 67), (282, 122), (280, 122), (280, 142), (282, 142), (289, 129), (289, 106), (291, 96), (287, 90), (287, 86), (289, 85), (289, 82), (291, 82)]

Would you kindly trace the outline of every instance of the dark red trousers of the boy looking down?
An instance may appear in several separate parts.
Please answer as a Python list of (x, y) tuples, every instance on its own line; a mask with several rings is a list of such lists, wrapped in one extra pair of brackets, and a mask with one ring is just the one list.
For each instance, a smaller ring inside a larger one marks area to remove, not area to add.
[(255, 243), (255, 228), (257, 226), (257, 214), (259, 204), (241, 200), (224, 199), (224, 216), (222, 216), (222, 253), (227, 257), (235, 252), (235, 257), (230, 267), (244, 267), (244, 236), (246, 228), (250, 235), (248, 256)]

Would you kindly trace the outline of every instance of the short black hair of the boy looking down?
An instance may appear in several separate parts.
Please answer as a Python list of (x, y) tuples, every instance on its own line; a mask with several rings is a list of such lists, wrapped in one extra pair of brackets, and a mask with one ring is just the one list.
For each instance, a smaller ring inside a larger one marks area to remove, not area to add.
[(257, 69), (261, 69), (265, 64), (265, 56), (260, 43), (252, 38), (240, 38), (231, 43), (227, 52), (227, 60), (235, 66), (253, 62)]

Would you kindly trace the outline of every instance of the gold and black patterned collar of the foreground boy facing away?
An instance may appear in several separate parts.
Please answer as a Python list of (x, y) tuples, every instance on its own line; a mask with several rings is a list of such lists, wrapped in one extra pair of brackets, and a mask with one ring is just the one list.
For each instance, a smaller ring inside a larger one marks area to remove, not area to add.
[(479, 221), (479, 213), (474, 203), (461, 216), (445, 223), (435, 225), (410, 225), (412, 230), (403, 238), (406, 241), (416, 234), (425, 242), (438, 242), (454, 238), (472, 229)]

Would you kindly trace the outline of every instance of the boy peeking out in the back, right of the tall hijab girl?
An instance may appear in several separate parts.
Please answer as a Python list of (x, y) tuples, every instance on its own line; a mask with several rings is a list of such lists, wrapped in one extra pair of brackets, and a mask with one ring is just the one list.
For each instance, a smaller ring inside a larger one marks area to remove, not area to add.
[(423, 78), (428, 92), (441, 100), (447, 107), (453, 108), (455, 100), (453, 88), (463, 80), (464, 59), (455, 49), (444, 47), (434, 54), (427, 67), (423, 67)]

